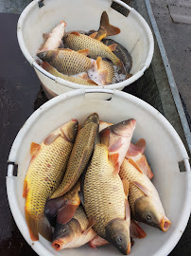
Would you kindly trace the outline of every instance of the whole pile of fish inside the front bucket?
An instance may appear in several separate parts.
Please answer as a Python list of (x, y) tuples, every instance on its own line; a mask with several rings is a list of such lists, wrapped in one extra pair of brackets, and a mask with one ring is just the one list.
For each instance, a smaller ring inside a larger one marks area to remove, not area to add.
[(135, 119), (113, 124), (92, 113), (31, 143), (23, 195), (33, 241), (40, 233), (56, 250), (112, 244), (127, 255), (133, 239), (147, 235), (137, 221), (169, 229), (146, 141), (130, 142), (135, 126)]

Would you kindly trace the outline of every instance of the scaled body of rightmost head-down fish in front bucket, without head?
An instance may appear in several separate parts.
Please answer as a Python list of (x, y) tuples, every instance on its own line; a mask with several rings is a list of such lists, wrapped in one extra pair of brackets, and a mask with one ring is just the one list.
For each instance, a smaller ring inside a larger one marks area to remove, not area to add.
[[(134, 202), (136, 199), (142, 196), (146, 196), (146, 193), (141, 191), (136, 185), (134, 185), (132, 182), (136, 181), (139, 182), (141, 185), (146, 187), (148, 189), (149, 195), (152, 196), (156, 201), (157, 208), (165, 214), (165, 211), (163, 209), (163, 206), (161, 204), (161, 200), (159, 198), (159, 194), (156, 191), (154, 185), (149, 180), (148, 176), (146, 174), (141, 174), (133, 165), (130, 164), (128, 159), (124, 159), (119, 176), (121, 179), (127, 179), (129, 181), (129, 203), (130, 203), (130, 211), (132, 215), (134, 215)], [(130, 182), (131, 181), (131, 182)]]

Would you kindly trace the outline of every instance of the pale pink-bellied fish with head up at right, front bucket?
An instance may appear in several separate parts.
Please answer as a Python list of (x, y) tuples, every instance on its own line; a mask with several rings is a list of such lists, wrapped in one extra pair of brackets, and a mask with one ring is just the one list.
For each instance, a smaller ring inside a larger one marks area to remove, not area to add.
[(119, 173), (120, 166), (130, 147), (130, 140), (135, 125), (135, 119), (128, 119), (113, 124), (99, 132), (101, 144), (107, 145), (109, 158), (113, 160), (115, 172), (117, 174)]

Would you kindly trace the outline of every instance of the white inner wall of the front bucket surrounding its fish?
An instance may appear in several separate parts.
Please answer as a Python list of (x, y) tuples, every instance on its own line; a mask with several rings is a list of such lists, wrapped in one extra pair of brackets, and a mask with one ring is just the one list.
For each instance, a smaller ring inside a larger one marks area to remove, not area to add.
[[(47, 135), (61, 126), (62, 123), (69, 119), (78, 119), (81, 122), (92, 112), (97, 112), (100, 119), (114, 123), (123, 119), (134, 118), (137, 120), (137, 125), (132, 141), (136, 142), (141, 137), (144, 137), (147, 141), (146, 155), (154, 173), (153, 183), (160, 194), (166, 216), (172, 222), (172, 226), (167, 232), (162, 232), (159, 229), (141, 224), (141, 227), (147, 233), (147, 237), (142, 240), (136, 239), (130, 254), (132, 256), (143, 255), (144, 247), (144, 255), (155, 255), (154, 253), (160, 252), (161, 248), (163, 249), (165, 245), (170, 243), (174, 233), (180, 232), (179, 224), (182, 220), (188, 181), (186, 173), (180, 173), (178, 162), (187, 156), (186, 152), (182, 151), (181, 139), (175, 138), (170, 130), (166, 130), (165, 123), (158, 118), (162, 116), (159, 112), (150, 112), (145, 103), (135, 101), (131, 96), (129, 100), (127, 98), (122, 99), (119, 96), (118, 92), (115, 92), (111, 101), (96, 101), (90, 99), (84, 93), (78, 92), (74, 93), (73, 97), (65, 96), (64, 101), (58, 101), (61, 97), (63, 99), (64, 96), (55, 98), (48, 110), (45, 106), (39, 109), (40, 114), (32, 121), (32, 124), (27, 129), (25, 125), (23, 127), (26, 131), (21, 141), (19, 141), (20, 145), (17, 145), (19, 151), (13, 154), (15, 158), (9, 156), (9, 160), (17, 162), (19, 166), (18, 176), (13, 177), (14, 192), (17, 198), (15, 203), (22, 212), (22, 220), (25, 222), (25, 199), (22, 195), (24, 179), (30, 161), (29, 148), (32, 141), (41, 143)], [(53, 103), (55, 101), (57, 103)], [(14, 149), (12, 152), (14, 152)], [(11, 179), (11, 177), (9, 178)], [(32, 246), (27, 229), (25, 237)], [(56, 252), (51, 244), (42, 237), (40, 237), (40, 242), (35, 243), (34, 246), (37, 246), (38, 243), (52, 253), (47, 255), (83, 256), (88, 253), (95, 256), (121, 255), (112, 246), (100, 247), (97, 250), (85, 246)]]

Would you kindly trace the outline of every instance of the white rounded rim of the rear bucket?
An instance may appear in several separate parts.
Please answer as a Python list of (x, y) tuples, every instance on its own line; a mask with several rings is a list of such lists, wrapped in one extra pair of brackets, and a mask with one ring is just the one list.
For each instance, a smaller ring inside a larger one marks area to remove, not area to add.
[(102, 88), (102, 89), (112, 89), (113, 90), (113, 89), (121, 89), (125, 86), (130, 85), (132, 82), (137, 81), (140, 77), (143, 76), (145, 71), (148, 69), (148, 66), (150, 65), (150, 63), (152, 61), (152, 57), (153, 57), (153, 53), (154, 53), (154, 39), (153, 39), (151, 29), (148, 26), (148, 23), (146, 22), (146, 20), (142, 17), (142, 15), (138, 11), (136, 11), (133, 8), (130, 8), (129, 5), (125, 4), (121, 0), (113, 0), (113, 2), (119, 4), (122, 7), (124, 7), (126, 9), (130, 10), (131, 12), (133, 12), (134, 15), (137, 17), (137, 19), (139, 19), (141, 21), (141, 24), (144, 27), (144, 29), (147, 31), (148, 56), (147, 56), (147, 59), (145, 61), (145, 64), (143, 64), (143, 66), (135, 74), (133, 74), (128, 80), (125, 80), (123, 82), (117, 82), (117, 83), (109, 84), (109, 85), (83, 85), (83, 84), (78, 84), (78, 83), (75, 83), (75, 82), (65, 81), (61, 78), (58, 78), (58, 77), (55, 77), (55, 76), (51, 75), (50, 73), (45, 71), (43, 69), (43, 67), (41, 67), (39, 64), (37, 64), (35, 59), (30, 55), (30, 53), (28, 52), (28, 50), (26, 48), (26, 44), (24, 42), (24, 37), (23, 37), (23, 32), (22, 32), (22, 27), (23, 27), (23, 24), (24, 24), (24, 21), (26, 19), (26, 16), (27, 16), (28, 12), (30, 12), (32, 9), (35, 9), (36, 5), (38, 5), (38, 2), (39, 1), (37, 1), (37, 0), (32, 1), (30, 4), (28, 4), (26, 6), (26, 9), (24, 9), (22, 11), (22, 13), (19, 17), (18, 23), (17, 23), (17, 39), (18, 39), (19, 46), (20, 46), (24, 56), (26, 57), (27, 62), (29, 64), (31, 64), (39, 72), (41, 72), (43, 75), (48, 77), (49, 79), (65, 86), (65, 87), (72, 88), (72, 89), (81, 89), (81, 88), (85, 88), (85, 89), (97, 88), (97, 89), (99, 89), (99, 88)]

